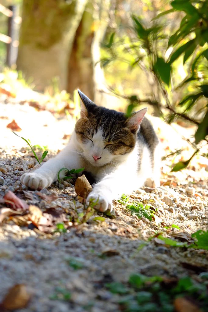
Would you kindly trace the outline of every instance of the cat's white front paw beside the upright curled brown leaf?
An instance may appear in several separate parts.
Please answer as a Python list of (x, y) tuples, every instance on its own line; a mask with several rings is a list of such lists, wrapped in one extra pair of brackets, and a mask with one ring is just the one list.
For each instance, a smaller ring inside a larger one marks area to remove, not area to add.
[(101, 193), (94, 193), (92, 191), (92, 193), (88, 195), (86, 200), (87, 205), (89, 205), (90, 202), (96, 203), (96, 205), (93, 206), (93, 208), (101, 212), (104, 212), (106, 210), (112, 211), (113, 209), (112, 201), (106, 195)]

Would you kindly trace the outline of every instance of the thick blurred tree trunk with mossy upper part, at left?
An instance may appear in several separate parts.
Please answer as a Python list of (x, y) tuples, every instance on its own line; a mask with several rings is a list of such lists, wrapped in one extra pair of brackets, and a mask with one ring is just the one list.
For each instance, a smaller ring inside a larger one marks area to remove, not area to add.
[(17, 69), (43, 91), (53, 77), (67, 88), (67, 63), (87, 0), (24, 0)]

